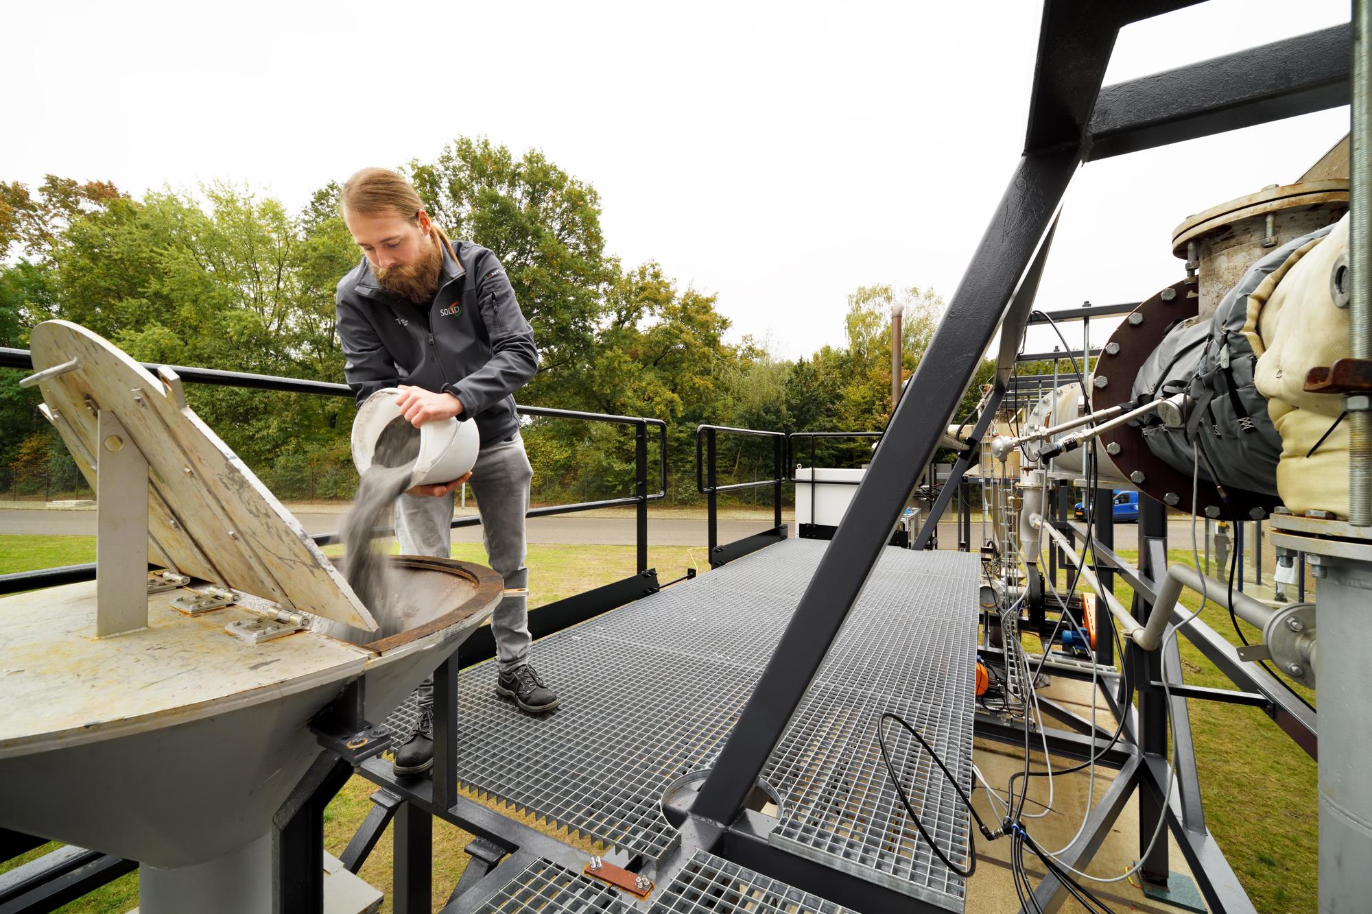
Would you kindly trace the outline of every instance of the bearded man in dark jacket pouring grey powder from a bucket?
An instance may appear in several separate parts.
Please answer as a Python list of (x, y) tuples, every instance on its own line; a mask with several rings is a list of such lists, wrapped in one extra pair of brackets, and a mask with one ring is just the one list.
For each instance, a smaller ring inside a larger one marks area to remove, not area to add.
[[(491, 616), (495, 692), (525, 712), (552, 711), (557, 696), (528, 663), (524, 594), (509, 593), (528, 586), (524, 515), (534, 471), (513, 394), (538, 369), (534, 331), (495, 254), (451, 242), (395, 172), (362, 169), (343, 185), (339, 204), (364, 255), (338, 285), (347, 383), (358, 403), (399, 387), (397, 405), (416, 427), (449, 417), (476, 423), (482, 450), (469, 484), (487, 556), (506, 587)], [(397, 500), (403, 554), (451, 556), (453, 491), (461, 482), (416, 486)], [(432, 766), (432, 681), (418, 694), (421, 727), (397, 751), (398, 774)]]

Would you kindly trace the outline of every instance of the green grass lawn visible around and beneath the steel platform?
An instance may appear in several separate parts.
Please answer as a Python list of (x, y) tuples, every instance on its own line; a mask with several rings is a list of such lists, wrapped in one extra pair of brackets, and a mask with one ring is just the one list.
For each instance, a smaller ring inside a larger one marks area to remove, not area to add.
[[(329, 548), (327, 552), (338, 550)], [(453, 549), (453, 554), (471, 561), (486, 560), (479, 543), (460, 543)], [(1131, 561), (1136, 559), (1131, 552), (1121, 550), (1120, 554)], [(93, 561), (93, 559), (92, 537), (0, 535), (0, 574)], [(634, 560), (632, 546), (531, 545), (530, 605), (552, 602), (630, 575), (634, 572)], [(1172, 550), (1169, 560), (1191, 564), (1191, 553)], [(649, 564), (657, 568), (659, 579), (664, 582), (685, 574), (687, 567), (708, 570), (702, 548), (653, 548), (649, 552)], [(1129, 605), (1133, 593), (1128, 585), (1117, 582), (1115, 596)], [(1199, 598), (1185, 593), (1183, 604), (1194, 609), (1199, 605)], [(1200, 618), (1233, 644), (1239, 642), (1224, 609), (1210, 605)], [(1246, 635), (1249, 641), (1258, 640), (1257, 630), (1247, 626)], [(1188, 683), (1232, 688), (1228, 678), (1184, 637), (1180, 640), (1180, 648)], [(1314, 701), (1310, 690), (1301, 686), (1297, 689), (1306, 700)], [(1224, 848), (1240, 882), (1259, 911), (1314, 911), (1318, 871), (1314, 762), (1257, 708), (1199, 700), (1188, 704), (1206, 803), (1206, 823)], [(332, 854), (342, 852), (366, 815), (372, 789), (369, 781), (354, 777), (329, 804), (325, 812), (325, 847)], [(505, 812), (513, 815), (510, 810)], [(524, 821), (553, 833), (549, 826)], [(565, 834), (560, 837), (569, 840)], [(435, 822), (434, 884), (442, 893), (435, 898), (435, 911), (442, 907), (446, 891), (466, 865), (462, 848), (469, 840), (471, 836), (458, 829)], [(8, 865), (0, 863), (0, 871), (51, 847), (38, 848)], [(388, 896), (390, 870), (391, 839), (387, 832), (362, 867), (361, 876)], [(103, 914), (126, 911), (136, 903), (137, 874), (130, 873), (59, 910), (66, 914), (77, 911)], [(390, 911), (390, 898), (381, 910)]]

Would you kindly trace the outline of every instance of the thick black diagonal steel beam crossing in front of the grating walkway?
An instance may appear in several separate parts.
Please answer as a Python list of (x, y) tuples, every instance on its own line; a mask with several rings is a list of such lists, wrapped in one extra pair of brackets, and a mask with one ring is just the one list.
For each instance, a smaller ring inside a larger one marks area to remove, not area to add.
[(701, 789), (700, 815), (727, 823), (744, 808), (933, 457), (1077, 162), (1076, 148), (1021, 159), (973, 268), (915, 369), (910, 382), (915, 395), (901, 397), (896, 406), (863, 484)]

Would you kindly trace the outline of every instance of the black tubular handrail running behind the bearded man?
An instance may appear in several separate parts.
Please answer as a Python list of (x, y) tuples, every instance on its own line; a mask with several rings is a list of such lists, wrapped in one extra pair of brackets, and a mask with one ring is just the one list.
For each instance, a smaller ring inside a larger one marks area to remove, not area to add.
[[(154, 375), (162, 365), (155, 362), (140, 362), (143, 368)], [(0, 368), (33, 369), (33, 355), (26, 349), (0, 347)], [(191, 368), (185, 365), (167, 365), (182, 382), (196, 384), (218, 384), (224, 387), (243, 387), (248, 390), (273, 390), (288, 394), (317, 394), (322, 397), (353, 397), (353, 388), (347, 384), (331, 382), (316, 382), (300, 377), (277, 377), (273, 375), (252, 375), (248, 372), (226, 372), (211, 368)], [(552, 406), (524, 406), (516, 405), (521, 416), (538, 416), (542, 419), (575, 419), (580, 421), (601, 421), (619, 425), (634, 425), (634, 494), (623, 498), (604, 498), (600, 501), (582, 501), (569, 505), (547, 505), (532, 508), (527, 517), (546, 517), (550, 515), (568, 515), (580, 511), (594, 511), (597, 508), (620, 508), (634, 505), (638, 508), (637, 517), (637, 564), (638, 574), (648, 570), (648, 502), (660, 501), (667, 497), (667, 423), (661, 419), (646, 416), (615, 416), (609, 413), (587, 413), (576, 409), (554, 409)], [(657, 428), (657, 491), (648, 491), (648, 427)], [(475, 527), (482, 519), (454, 517), (451, 527)], [(388, 537), (395, 532), (394, 527), (380, 527), (373, 531), (376, 537)], [(316, 534), (314, 542), (324, 546), (339, 542), (338, 531)], [(0, 575), (0, 594), (18, 593), (21, 590), (34, 590), (38, 587), (52, 587), (63, 583), (95, 579), (95, 564), (63, 565), (59, 568), (45, 568), (36, 571), (21, 571), (16, 574)]]

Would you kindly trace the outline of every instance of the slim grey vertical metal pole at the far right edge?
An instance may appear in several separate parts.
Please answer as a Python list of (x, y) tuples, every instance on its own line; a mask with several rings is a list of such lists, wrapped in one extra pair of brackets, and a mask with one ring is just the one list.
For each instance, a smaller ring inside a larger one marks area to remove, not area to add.
[[(1353, 0), (1353, 107), (1349, 161), (1349, 332), (1353, 358), (1372, 358), (1372, 0)], [(1349, 409), (1349, 523), (1372, 527), (1372, 412), (1369, 397)]]

